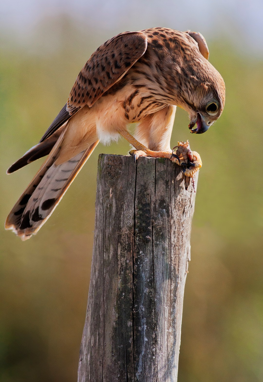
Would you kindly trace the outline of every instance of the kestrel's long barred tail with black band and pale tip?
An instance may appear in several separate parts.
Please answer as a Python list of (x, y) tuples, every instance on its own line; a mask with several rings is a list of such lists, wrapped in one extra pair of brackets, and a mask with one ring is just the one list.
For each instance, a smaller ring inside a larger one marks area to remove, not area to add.
[(56, 165), (65, 132), (66, 129), (6, 219), (6, 230), (13, 230), (23, 241), (37, 233), (50, 217), (99, 142), (94, 142), (67, 162)]

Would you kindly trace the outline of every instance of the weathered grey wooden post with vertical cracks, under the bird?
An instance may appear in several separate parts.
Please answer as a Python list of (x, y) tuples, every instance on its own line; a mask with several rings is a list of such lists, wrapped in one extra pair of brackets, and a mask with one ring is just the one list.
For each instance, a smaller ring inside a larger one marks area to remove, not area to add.
[(194, 201), (168, 159), (99, 155), (79, 382), (177, 381)]

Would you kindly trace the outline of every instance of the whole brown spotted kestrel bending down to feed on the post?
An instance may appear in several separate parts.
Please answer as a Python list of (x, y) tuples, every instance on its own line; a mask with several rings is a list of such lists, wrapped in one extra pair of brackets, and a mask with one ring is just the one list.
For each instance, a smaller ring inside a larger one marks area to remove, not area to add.
[[(122, 136), (135, 148), (135, 159), (178, 160), (170, 149), (176, 106), (188, 112), (191, 133), (200, 134), (220, 117), (225, 104), (223, 78), (208, 55), (200, 33), (168, 28), (123, 32), (101, 45), (40, 142), (7, 170), (12, 173), (48, 155), (5, 228), (22, 240), (35, 234), (99, 141), (109, 144)], [(127, 130), (132, 122), (137, 123), (135, 137)]]

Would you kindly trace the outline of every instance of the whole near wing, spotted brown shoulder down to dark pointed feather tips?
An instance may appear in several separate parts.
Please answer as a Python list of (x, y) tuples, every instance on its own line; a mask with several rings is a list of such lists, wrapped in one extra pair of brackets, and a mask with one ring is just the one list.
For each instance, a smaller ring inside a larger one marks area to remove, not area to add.
[(127, 73), (144, 54), (146, 48), (147, 37), (142, 32), (123, 32), (101, 45), (82, 68), (67, 104), (58, 113), (39, 144), (27, 151), (7, 170), (7, 173), (14, 172), (33, 160), (49, 154), (63, 131), (59, 130), (61, 126), (83, 106), (91, 107), (104, 92)]

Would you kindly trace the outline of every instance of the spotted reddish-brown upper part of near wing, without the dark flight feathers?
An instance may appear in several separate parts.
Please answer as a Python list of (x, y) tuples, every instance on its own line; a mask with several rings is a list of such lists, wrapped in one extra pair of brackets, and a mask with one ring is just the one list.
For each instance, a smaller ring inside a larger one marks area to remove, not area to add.
[(69, 114), (84, 105), (91, 107), (127, 73), (146, 48), (147, 37), (142, 32), (124, 32), (101, 45), (76, 79), (67, 101)]

